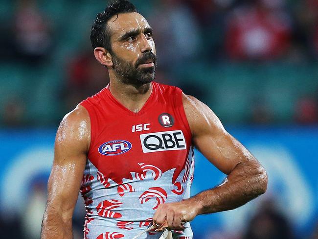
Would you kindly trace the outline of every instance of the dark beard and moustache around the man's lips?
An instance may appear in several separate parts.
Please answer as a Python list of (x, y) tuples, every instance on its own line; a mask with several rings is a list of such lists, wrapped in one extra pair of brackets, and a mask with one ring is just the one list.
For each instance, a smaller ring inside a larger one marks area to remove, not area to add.
[[(144, 53), (137, 61), (136, 64), (121, 59), (114, 53), (113, 56), (113, 69), (122, 78), (124, 83), (130, 84), (146, 84), (155, 79), (155, 71), (157, 67), (157, 56), (152, 52)], [(140, 64), (145, 63), (147, 60), (153, 60), (154, 66), (147, 68), (138, 68)]]

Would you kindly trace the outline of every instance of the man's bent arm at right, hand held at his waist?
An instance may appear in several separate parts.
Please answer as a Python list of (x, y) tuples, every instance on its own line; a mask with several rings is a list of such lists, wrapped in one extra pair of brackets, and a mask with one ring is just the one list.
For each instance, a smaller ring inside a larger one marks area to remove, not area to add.
[(176, 203), (159, 205), (154, 223), (170, 229), (196, 215), (235, 209), (267, 189), (267, 174), (254, 156), (224, 129), (209, 107), (195, 97), (183, 95), (192, 143), (215, 167), (227, 174), (225, 181), (210, 190)]

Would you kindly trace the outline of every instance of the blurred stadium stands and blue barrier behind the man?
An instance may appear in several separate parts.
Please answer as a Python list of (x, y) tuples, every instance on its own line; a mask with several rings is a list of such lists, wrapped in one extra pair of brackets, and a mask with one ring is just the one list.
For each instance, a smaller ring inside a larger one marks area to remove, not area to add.
[[(157, 81), (209, 105), (269, 174), (262, 197), (198, 216), (194, 238), (318, 239), (318, 0), (132, 2), (154, 28)], [(39, 239), (58, 124), (109, 80), (89, 40), (106, 4), (0, 0), (1, 238)], [(196, 154), (193, 194), (225, 177)]]

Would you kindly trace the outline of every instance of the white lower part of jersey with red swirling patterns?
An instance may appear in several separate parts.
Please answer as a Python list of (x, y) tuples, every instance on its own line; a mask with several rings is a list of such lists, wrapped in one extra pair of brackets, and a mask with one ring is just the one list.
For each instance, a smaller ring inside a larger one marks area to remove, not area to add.
[[(133, 238), (136, 235), (136, 227), (146, 229), (152, 224), (150, 216), (155, 213), (160, 204), (180, 201), (189, 196), (194, 166), (192, 159), (187, 159), (184, 162), (183, 169), (178, 171), (178, 175), (175, 175), (176, 168), (163, 172), (159, 166), (149, 163), (141, 162), (137, 165), (140, 170), (130, 172), (131, 177), (114, 179), (120, 183), (91, 165), (89, 172), (93, 177), (85, 175), (83, 184), (85, 182), (87, 184), (85, 185), (86, 189), (83, 189), (84, 192), (91, 190), (91, 188), (95, 190), (92, 198), (94, 203), (90, 205), (93, 213), (88, 216), (97, 220), (85, 227), (85, 239)], [(91, 179), (95, 180), (90, 181)], [(119, 218), (121, 221), (118, 221)], [(137, 224), (135, 224), (136, 221)], [(150, 237), (157, 233), (152, 230), (147, 234)], [(178, 238), (188, 236), (184, 239), (191, 239), (189, 232), (184, 234), (182, 231), (174, 231), (174, 233), (180, 233), (177, 234)]]

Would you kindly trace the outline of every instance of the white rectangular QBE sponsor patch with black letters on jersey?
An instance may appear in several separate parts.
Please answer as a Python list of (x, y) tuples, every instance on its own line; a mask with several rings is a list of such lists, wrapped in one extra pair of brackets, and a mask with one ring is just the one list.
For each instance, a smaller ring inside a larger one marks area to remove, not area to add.
[(181, 130), (141, 134), (140, 142), (144, 153), (186, 149)]

